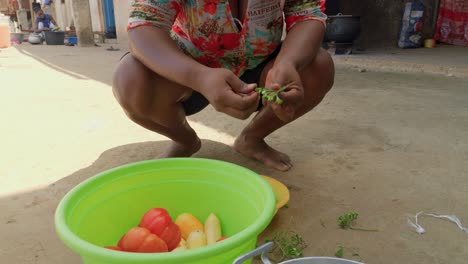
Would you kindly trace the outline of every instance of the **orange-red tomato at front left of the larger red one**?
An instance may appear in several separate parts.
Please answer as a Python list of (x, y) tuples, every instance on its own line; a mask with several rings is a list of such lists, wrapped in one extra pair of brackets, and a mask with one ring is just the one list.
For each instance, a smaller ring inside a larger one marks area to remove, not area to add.
[(164, 240), (143, 227), (130, 229), (119, 241), (119, 248), (128, 252), (167, 252)]

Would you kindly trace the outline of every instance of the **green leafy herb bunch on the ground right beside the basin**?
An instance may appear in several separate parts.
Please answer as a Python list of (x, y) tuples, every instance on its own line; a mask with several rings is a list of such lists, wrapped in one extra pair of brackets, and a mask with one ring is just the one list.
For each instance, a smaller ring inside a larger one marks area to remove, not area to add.
[(307, 247), (302, 236), (291, 230), (275, 231), (273, 238), (266, 242), (275, 244), (272, 258), (276, 262), (302, 258), (304, 257), (303, 250)]

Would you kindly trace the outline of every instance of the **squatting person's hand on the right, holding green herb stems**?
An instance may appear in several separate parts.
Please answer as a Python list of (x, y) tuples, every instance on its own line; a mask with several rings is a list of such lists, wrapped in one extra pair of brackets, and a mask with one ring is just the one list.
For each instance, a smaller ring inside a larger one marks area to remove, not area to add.
[(287, 89), (279, 93), (282, 104), (263, 101), (264, 105), (271, 106), (276, 116), (283, 122), (290, 122), (296, 116), (297, 109), (304, 102), (304, 89), (301, 77), (292, 64), (274, 65), (267, 74), (265, 87), (279, 90), (286, 86)]

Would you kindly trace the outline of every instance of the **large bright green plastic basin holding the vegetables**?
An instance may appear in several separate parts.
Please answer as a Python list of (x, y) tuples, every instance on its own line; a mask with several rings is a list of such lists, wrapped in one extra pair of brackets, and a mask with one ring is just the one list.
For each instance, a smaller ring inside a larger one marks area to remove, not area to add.
[[(219, 217), (221, 242), (171, 253), (127, 253), (103, 248), (137, 226), (154, 207), (173, 219), (189, 212)], [(275, 196), (258, 174), (222, 161), (175, 158), (105, 171), (73, 188), (55, 214), (58, 236), (86, 264), (227, 264), (255, 248), (275, 212)]]

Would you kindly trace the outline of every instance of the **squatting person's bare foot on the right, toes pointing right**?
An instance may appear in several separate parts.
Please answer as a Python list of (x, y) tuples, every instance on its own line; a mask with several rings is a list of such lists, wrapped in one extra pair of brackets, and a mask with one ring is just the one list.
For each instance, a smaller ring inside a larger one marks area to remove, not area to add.
[(288, 155), (268, 146), (263, 139), (239, 136), (236, 142), (234, 142), (234, 149), (242, 155), (256, 159), (276, 170), (287, 171), (292, 167), (291, 159)]

